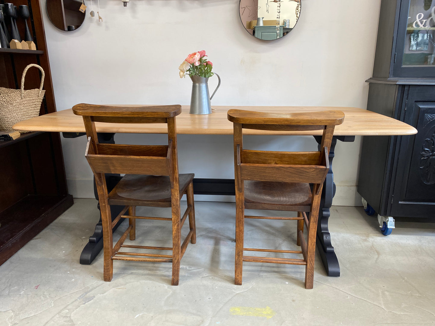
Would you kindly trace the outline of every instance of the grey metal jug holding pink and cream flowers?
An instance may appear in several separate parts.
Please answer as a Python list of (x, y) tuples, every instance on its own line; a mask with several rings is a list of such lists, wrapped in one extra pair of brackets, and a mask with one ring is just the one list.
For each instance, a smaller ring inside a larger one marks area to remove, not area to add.
[(218, 76), (218, 87), (214, 90), (213, 94), (208, 93), (208, 77), (190, 76), (192, 80), (192, 97), (191, 107), (189, 113), (191, 114), (210, 114), (211, 113), (211, 99), (214, 93), (221, 86), (221, 78)]

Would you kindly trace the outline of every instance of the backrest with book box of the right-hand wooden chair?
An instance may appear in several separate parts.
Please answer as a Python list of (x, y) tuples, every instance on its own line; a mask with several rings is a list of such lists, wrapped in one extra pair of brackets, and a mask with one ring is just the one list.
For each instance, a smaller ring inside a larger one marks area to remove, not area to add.
[[(343, 123), (341, 111), (307, 113), (264, 113), (229, 110), (228, 120), (234, 123), (235, 179), (243, 191), (243, 180), (304, 182), (315, 185), (319, 194), (329, 170), (328, 153), (336, 125)], [(243, 149), (243, 129), (307, 131), (323, 130), (317, 152), (274, 152)]]

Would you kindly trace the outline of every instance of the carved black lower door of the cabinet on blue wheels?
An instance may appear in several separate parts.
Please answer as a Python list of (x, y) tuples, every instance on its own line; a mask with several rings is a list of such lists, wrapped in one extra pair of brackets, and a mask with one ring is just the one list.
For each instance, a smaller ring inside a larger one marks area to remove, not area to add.
[[(421, 100), (421, 101), (420, 101)], [(435, 216), (435, 87), (411, 86), (405, 122), (416, 135), (398, 138), (391, 216)]]

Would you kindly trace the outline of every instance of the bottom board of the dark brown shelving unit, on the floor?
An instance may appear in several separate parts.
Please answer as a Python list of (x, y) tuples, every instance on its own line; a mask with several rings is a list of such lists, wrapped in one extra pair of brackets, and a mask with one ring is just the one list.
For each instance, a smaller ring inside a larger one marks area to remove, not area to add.
[(72, 204), (71, 195), (28, 195), (0, 212), (0, 265)]

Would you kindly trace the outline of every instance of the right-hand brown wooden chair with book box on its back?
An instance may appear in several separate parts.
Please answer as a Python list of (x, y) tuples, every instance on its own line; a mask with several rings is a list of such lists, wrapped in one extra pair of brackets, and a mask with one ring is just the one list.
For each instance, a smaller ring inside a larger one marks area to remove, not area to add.
[[(323, 182), (329, 170), (328, 153), (334, 127), (344, 120), (341, 111), (263, 113), (229, 110), (234, 123), (236, 191), (235, 284), (242, 283), (243, 262), (305, 265), (305, 288), (313, 288), (316, 230)], [(272, 152), (243, 149), (243, 129), (323, 130), (318, 152)], [(313, 183), (310, 190), (309, 183)], [(244, 209), (298, 212), (298, 217), (245, 216)], [(309, 218), (305, 212), (310, 212)], [(300, 251), (244, 248), (244, 219), (298, 220)], [(304, 238), (307, 225), (307, 242)], [(244, 256), (244, 251), (302, 254), (303, 259)]]

